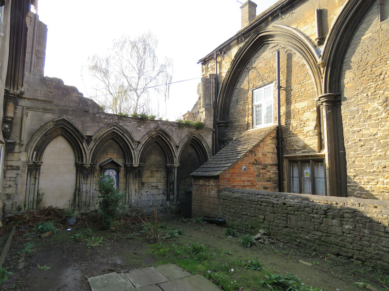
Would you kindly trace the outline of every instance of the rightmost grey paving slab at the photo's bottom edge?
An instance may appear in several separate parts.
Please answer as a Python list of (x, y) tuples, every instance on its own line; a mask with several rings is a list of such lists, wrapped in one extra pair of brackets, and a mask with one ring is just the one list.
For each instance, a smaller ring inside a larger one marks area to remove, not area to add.
[(221, 291), (203, 275), (193, 275), (158, 285), (163, 291)]

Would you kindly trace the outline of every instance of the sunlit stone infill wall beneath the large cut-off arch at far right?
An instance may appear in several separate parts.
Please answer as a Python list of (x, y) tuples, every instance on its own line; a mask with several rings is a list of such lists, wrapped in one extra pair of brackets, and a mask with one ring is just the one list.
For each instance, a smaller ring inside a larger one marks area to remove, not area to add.
[(342, 75), (342, 116), (348, 194), (389, 200), (389, 5), (361, 23)]

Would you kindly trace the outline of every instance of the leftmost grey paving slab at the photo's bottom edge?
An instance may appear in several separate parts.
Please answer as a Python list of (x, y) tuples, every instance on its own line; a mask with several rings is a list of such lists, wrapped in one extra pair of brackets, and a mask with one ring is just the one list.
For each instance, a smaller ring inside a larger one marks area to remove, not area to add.
[(135, 287), (123, 273), (116, 272), (88, 278), (92, 291), (128, 291)]

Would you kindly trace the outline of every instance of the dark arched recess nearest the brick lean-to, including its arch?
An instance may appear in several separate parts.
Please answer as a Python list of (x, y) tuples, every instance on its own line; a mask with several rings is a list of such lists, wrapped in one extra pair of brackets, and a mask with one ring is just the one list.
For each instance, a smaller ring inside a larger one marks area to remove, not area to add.
[(193, 178), (190, 175), (210, 157), (209, 146), (197, 132), (191, 132), (182, 139), (178, 150), (177, 200), (185, 217), (192, 217)]

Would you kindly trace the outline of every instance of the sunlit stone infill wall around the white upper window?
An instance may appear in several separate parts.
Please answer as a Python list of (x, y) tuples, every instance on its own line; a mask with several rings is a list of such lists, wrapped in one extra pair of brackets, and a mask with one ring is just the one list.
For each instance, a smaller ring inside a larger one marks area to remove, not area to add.
[(280, 50), (281, 127), (284, 154), (320, 150), (317, 94), (307, 66), (290, 49), (264, 45), (251, 58), (230, 100), (227, 141), (253, 128), (252, 90), (273, 82), (273, 122), (277, 124), (276, 51)]

